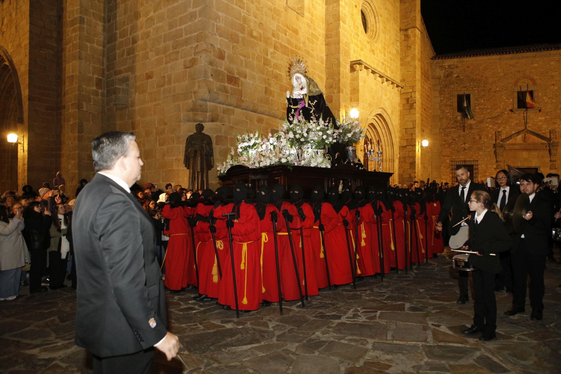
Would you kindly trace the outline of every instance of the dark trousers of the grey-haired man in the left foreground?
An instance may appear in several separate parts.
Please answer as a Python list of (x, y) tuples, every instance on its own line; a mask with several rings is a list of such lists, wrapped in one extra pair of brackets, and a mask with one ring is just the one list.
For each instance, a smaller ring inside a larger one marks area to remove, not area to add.
[(112, 357), (93, 357), (94, 374), (149, 374), (154, 348)]

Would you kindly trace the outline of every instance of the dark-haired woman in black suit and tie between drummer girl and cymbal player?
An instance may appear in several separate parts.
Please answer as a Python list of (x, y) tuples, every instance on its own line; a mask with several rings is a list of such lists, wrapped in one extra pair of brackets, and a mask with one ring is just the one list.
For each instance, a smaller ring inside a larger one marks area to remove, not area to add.
[[(489, 193), (491, 202), (503, 213), (507, 202), (516, 201), (520, 196), (520, 188), (517, 184), (512, 185), (511, 174), (504, 169), (496, 172), (495, 187), (495, 190)], [(500, 252), (499, 259), (502, 270), (495, 276), (495, 291), (503, 291), (506, 287), (507, 292), (512, 292), (511, 251)]]

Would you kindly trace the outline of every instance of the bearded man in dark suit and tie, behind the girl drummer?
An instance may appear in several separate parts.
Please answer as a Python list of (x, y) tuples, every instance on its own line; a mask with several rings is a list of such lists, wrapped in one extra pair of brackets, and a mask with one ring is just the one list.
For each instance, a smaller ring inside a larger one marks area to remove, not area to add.
[[(485, 185), (470, 181), (470, 172), (467, 170), (465, 165), (458, 165), (456, 167), (456, 179), (458, 179), (458, 185), (450, 188), (446, 194), (444, 200), (444, 205), (440, 210), (438, 215), (438, 223), (436, 224), (436, 229), (442, 231), (442, 223), (450, 215), (450, 210), (452, 211), (452, 218), (448, 224), (448, 233), (450, 236), (456, 235), (462, 226), (467, 226), (466, 222), (461, 225), (456, 225), (459, 221), (465, 219), (469, 213), (467, 202), (470, 200), (471, 193), (473, 191), (485, 191)], [(470, 300), (470, 295), (468, 294), (468, 272), (459, 271), (458, 287), (459, 287), (459, 298), (458, 304), (465, 304)]]

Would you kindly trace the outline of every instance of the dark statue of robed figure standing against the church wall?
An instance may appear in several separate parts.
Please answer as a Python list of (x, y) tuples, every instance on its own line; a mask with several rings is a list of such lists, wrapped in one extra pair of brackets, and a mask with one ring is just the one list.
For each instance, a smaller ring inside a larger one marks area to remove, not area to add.
[(202, 123), (197, 123), (195, 132), (185, 141), (183, 164), (190, 171), (189, 187), (194, 191), (209, 188), (209, 170), (214, 167), (212, 138), (203, 133), (204, 129)]

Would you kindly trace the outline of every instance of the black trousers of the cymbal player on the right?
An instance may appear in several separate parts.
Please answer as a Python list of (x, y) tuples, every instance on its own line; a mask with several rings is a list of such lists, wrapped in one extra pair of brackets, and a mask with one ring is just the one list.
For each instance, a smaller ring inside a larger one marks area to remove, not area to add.
[(523, 308), (526, 305), (527, 276), (530, 274), (530, 306), (532, 310), (544, 310), (544, 270), (546, 255), (532, 255), (525, 238), (520, 239), (516, 251), (511, 254), (512, 262), (512, 305)]

